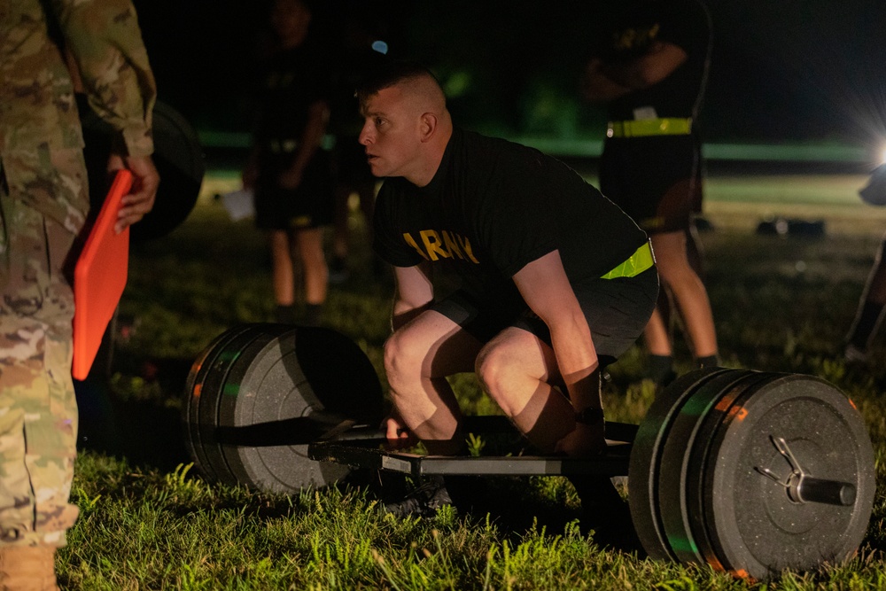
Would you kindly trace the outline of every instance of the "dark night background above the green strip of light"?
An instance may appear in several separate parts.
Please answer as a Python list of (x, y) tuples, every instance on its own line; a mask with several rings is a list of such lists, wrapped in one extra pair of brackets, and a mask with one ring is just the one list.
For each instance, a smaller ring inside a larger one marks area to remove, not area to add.
[[(617, 1), (617, 0), (616, 0)], [(323, 0), (315, 34), (347, 12), (385, 23), (392, 54), (431, 66), (456, 121), (499, 135), (599, 139), (577, 80), (602, 0)], [(135, 0), (159, 86), (201, 132), (249, 128), (267, 3)], [(863, 147), (886, 138), (886, 2), (710, 0), (706, 141)]]

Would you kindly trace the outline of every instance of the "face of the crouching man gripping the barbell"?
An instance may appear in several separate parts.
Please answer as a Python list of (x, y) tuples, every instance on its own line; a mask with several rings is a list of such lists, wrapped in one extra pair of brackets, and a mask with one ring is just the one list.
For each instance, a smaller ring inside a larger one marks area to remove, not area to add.
[(360, 143), (376, 176), (413, 180), (420, 170), (421, 114), (398, 86), (381, 89), (361, 105)]

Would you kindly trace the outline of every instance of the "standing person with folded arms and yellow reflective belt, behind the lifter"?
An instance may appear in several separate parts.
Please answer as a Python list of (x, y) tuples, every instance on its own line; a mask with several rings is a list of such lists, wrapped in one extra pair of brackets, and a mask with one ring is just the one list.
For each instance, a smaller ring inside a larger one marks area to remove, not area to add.
[(600, 189), (652, 240), (665, 297), (644, 335), (649, 377), (665, 385), (675, 377), (667, 294), (696, 367), (719, 362), (711, 303), (688, 249), (702, 190), (697, 118), (710, 65), (710, 17), (698, 0), (625, 0), (602, 3), (597, 24), (582, 92), (606, 104), (610, 121)]

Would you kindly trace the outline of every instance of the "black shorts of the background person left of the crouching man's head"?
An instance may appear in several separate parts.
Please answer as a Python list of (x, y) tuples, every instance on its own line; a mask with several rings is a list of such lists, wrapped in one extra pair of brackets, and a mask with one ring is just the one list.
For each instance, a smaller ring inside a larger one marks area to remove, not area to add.
[(301, 184), (284, 189), (277, 179), (291, 155), (269, 157), (260, 164), (255, 188), (255, 225), (260, 229), (309, 229), (332, 223), (335, 207), (329, 153), (317, 151)]

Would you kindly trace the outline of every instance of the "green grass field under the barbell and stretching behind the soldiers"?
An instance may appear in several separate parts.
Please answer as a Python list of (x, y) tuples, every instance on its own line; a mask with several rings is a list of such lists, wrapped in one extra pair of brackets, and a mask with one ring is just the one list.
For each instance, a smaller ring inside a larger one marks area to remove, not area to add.
[[(865, 418), (882, 485), (886, 367), (849, 367), (851, 323), (886, 209), (864, 206), (858, 175), (711, 177), (703, 232), (705, 283), (728, 367), (820, 376)], [(221, 331), (272, 317), (270, 270), (252, 222), (230, 222), (212, 196), (235, 175), (207, 178), (189, 220), (134, 245), (120, 304), (125, 335), (107, 385), (80, 395), (83, 453), (74, 501), (82, 516), (59, 557), (72, 589), (866, 589), (886, 587), (882, 494), (859, 556), (753, 585), (706, 566), (603, 550), (576, 521), (562, 478), (490, 478), (488, 512), (400, 521), (377, 511), (373, 487), (284, 496), (212, 485), (189, 465), (178, 424), (183, 371)], [(825, 222), (823, 236), (759, 235), (783, 216)], [(390, 277), (373, 279), (363, 221), (352, 219), (352, 275), (333, 286), (326, 323), (353, 338), (380, 372)], [(688, 354), (678, 341), (680, 369)], [(874, 359), (886, 339), (874, 344)], [(652, 398), (634, 347), (611, 368), (610, 420), (639, 422)], [(382, 376), (383, 377), (383, 376)], [(384, 378), (384, 377), (383, 377)], [(494, 412), (470, 380), (468, 412)], [(105, 387), (106, 386), (106, 387)]]

